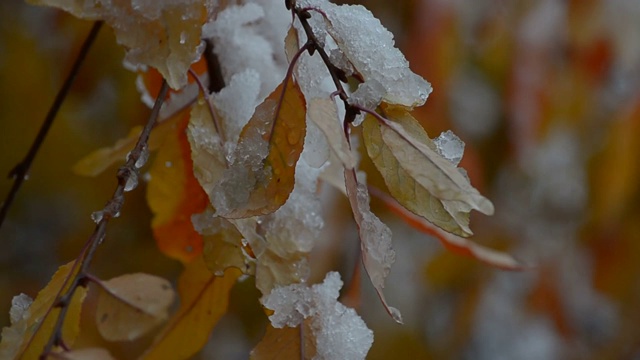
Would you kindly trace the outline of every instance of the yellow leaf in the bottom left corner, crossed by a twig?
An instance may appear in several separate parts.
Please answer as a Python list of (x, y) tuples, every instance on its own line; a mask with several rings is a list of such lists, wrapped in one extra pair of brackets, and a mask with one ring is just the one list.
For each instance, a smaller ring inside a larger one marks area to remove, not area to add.
[[(28, 308), (14, 304), (17, 308), (12, 308), (11, 326), (2, 329), (0, 359), (37, 359), (40, 356), (53, 336), (54, 325), (60, 315), (60, 308), (53, 307), (54, 301), (69, 286), (66, 281), (74, 276), (72, 268), (73, 262), (58, 268)], [(62, 336), (67, 346), (73, 345), (80, 332), (80, 311), (86, 294), (86, 288), (77, 288), (69, 302), (62, 326)]]

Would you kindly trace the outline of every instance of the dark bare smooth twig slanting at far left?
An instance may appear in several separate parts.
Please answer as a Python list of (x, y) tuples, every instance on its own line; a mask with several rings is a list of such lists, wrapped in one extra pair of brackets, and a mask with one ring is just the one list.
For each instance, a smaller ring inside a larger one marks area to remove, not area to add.
[(49, 112), (47, 113), (47, 116), (45, 117), (44, 122), (40, 127), (40, 131), (38, 131), (38, 135), (36, 135), (36, 138), (33, 140), (33, 143), (31, 144), (31, 148), (29, 149), (29, 152), (27, 153), (25, 158), (21, 162), (19, 162), (9, 172), (9, 178), (13, 179), (14, 182), (13, 182), (13, 186), (11, 186), (11, 190), (9, 190), (7, 197), (2, 203), (2, 207), (0, 208), (0, 227), (2, 227), (2, 224), (4, 223), (4, 219), (7, 216), (7, 212), (9, 211), (9, 208), (11, 207), (11, 204), (13, 203), (13, 200), (15, 199), (16, 194), (18, 193), (18, 190), (20, 190), (22, 183), (27, 177), (27, 173), (31, 168), (33, 159), (36, 157), (38, 150), (40, 150), (40, 146), (42, 146), (42, 143), (44, 142), (45, 137), (49, 133), (49, 129), (53, 124), (53, 120), (56, 118), (56, 115), (58, 114), (58, 111), (60, 110), (62, 103), (67, 97), (69, 90), (71, 89), (71, 85), (76, 79), (76, 76), (80, 71), (80, 67), (84, 62), (84, 59), (87, 57), (87, 53), (89, 52), (89, 49), (91, 48), (96, 37), (98, 36), (98, 32), (100, 31), (101, 27), (102, 27), (102, 21), (96, 21), (93, 24), (93, 27), (89, 32), (89, 35), (87, 35), (87, 38), (85, 39), (84, 43), (82, 44), (82, 47), (80, 48), (80, 52), (76, 57), (76, 61), (73, 63), (73, 66), (71, 67), (71, 71), (69, 72), (69, 75), (67, 76), (64, 83), (62, 84), (62, 88), (60, 88), (60, 91), (58, 91), (58, 94), (56, 95), (56, 98), (53, 101), (51, 108), (49, 108)]

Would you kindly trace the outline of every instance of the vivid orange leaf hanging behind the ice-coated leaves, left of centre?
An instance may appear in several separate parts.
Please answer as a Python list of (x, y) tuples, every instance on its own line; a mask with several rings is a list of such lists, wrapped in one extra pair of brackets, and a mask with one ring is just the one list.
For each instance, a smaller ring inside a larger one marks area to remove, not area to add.
[(160, 250), (182, 262), (202, 252), (202, 236), (191, 223), (191, 215), (208, 204), (207, 194), (193, 175), (191, 150), (183, 117), (167, 134), (149, 174), (147, 200), (154, 214), (153, 234)]

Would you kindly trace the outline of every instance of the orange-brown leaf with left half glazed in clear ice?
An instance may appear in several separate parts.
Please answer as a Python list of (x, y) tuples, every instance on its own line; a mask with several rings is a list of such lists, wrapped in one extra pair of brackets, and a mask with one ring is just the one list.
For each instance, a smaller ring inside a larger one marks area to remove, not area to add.
[(234, 162), (214, 188), (218, 214), (245, 218), (280, 208), (293, 190), (305, 133), (304, 98), (289, 78), (256, 108), (242, 130)]

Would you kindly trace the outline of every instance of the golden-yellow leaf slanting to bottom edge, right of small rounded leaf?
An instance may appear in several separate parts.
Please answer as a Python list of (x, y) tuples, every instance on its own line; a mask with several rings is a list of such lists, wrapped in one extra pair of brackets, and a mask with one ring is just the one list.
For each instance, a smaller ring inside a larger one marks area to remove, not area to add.
[(188, 264), (178, 281), (180, 308), (142, 358), (180, 360), (200, 351), (227, 312), (229, 292), (241, 274), (230, 268), (223, 277), (216, 277), (202, 258)]

